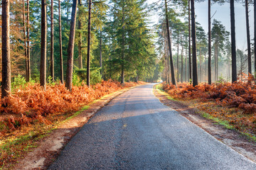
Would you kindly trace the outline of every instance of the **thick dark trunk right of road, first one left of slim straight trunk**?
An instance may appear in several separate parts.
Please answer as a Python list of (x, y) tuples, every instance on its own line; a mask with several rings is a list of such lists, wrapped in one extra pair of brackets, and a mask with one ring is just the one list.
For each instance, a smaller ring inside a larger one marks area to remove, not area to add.
[(192, 25), (192, 60), (193, 60), (193, 86), (198, 85), (198, 73), (196, 64), (196, 19), (194, 0), (191, 0), (191, 25)]

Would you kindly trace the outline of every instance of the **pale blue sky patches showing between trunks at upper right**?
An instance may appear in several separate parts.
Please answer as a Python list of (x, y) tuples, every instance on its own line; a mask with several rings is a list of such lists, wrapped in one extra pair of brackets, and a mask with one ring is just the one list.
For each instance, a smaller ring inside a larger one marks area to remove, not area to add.
[[(158, 0), (149, 0), (149, 4)], [(203, 29), (208, 33), (208, 1), (195, 4), (195, 13), (196, 13), (196, 22), (201, 23)], [(216, 13), (215, 13), (216, 11)], [(220, 21), (225, 29), (230, 32), (230, 4), (226, 3), (223, 5), (212, 4), (211, 14), (215, 15), (212, 18)], [(250, 22), (250, 39), (251, 42), (253, 37), (253, 6), (249, 8), (249, 22)], [(157, 23), (159, 21), (159, 16), (154, 13), (151, 16), (151, 21)], [(243, 4), (235, 3), (235, 38), (236, 46), (240, 50), (247, 49), (247, 40), (246, 40), (246, 27), (245, 27), (245, 6)]]

